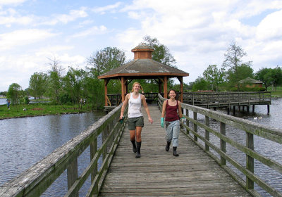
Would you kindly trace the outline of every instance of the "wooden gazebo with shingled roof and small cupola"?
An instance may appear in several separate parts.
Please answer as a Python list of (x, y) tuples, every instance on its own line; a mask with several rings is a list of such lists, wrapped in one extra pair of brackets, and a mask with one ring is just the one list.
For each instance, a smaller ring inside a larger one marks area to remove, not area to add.
[(177, 77), (180, 82), (180, 101), (183, 101), (183, 77), (189, 76), (189, 73), (154, 61), (152, 59), (154, 49), (145, 43), (139, 44), (131, 51), (134, 53), (133, 61), (125, 63), (98, 77), (99, 79), (104, 79), (105, 106), (108, 106), (107, 84), (110, 80), (121, 81), (121, 101), (123, 102), (128, 92), (128, 84), (131, 80), (153, 79), (159, 84), (159, 93), (161, 93), (161, 85), (164, 85), (164, 98), (167, 98), (168, 79)]

